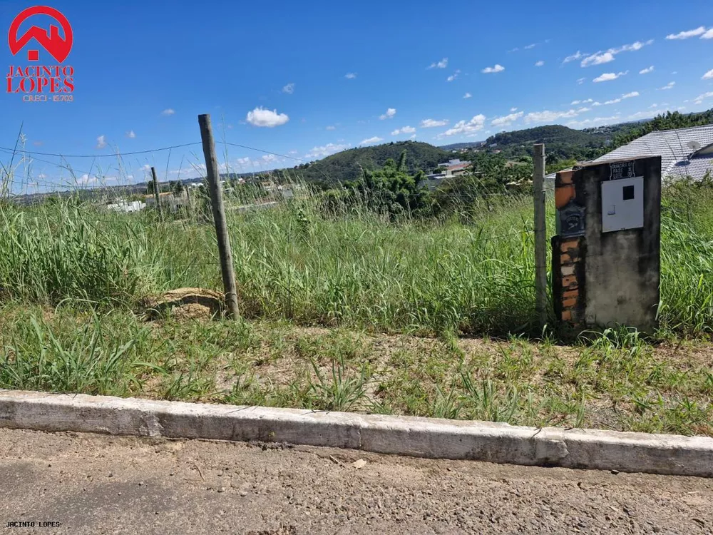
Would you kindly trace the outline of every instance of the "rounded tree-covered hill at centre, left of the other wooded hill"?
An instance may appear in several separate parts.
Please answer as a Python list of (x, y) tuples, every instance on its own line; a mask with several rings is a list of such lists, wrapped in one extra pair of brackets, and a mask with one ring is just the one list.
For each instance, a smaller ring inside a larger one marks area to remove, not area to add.
[(389, 158), (399, 160), (401, 151), (406, 151), (406, 167), (410, 173), (418, 170), (430, 172), (438, 163), (448, 161), (452, 154), (420, 141), (399, 141), (372, 147), (350, 148), (332, 154), (322, 160), (297, 165), (292, 171), (308, 182), (334, 183), (356, 180), (361, 169), (376, 169)]

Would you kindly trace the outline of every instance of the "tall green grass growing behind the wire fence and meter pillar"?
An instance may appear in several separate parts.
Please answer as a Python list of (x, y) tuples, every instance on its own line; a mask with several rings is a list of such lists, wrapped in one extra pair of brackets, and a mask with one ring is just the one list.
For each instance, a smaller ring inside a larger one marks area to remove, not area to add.
[[(713, 190), (681, 185), (664, 198), (662, 326), (710, 331)], [(531, 207), (528, 197), (494, 198), (469, 207), (468, 218), (394, 221), (354, 205), (327, 213), (312, 196), (228, 210), (242, 314), (385, 331), (539, 334)], [(220, 280), (205, 218), (119, 214), (75, 200), (0, 205), (1, 300), (133, 307), (150, 293), (220, 288)]]

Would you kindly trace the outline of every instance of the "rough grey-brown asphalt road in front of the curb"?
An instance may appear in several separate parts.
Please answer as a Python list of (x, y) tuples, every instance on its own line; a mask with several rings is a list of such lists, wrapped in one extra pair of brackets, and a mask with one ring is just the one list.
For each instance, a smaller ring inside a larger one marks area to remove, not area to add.
[(713, 480), (0, 429), (0, 531), (712, 534)]

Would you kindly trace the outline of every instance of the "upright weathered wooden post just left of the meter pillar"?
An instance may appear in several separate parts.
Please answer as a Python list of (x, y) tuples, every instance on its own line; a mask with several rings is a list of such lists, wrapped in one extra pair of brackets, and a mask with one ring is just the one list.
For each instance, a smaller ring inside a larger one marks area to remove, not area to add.
[(545, 146), (535, 145), (533, 156), (533, 195), (535, 198), (535, 309), (540, 329), (547, 325), (547, 227), (545, 221)]

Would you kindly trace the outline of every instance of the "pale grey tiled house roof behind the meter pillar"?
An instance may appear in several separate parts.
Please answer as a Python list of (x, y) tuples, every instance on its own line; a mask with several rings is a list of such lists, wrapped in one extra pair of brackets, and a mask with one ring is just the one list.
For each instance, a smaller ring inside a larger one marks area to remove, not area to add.
[[(661, 156), (661, 173), (664, 177), (684, 174), (692, 178), (703, 178), (705, 170), (708, 169), (707, 165), (712, 161), (710, 158), (693, 158), (690, 164), (684, 162), (695, 152), (688, 146), (690, 141), (697, 141), (702, 147), (711, 145), (713, 143), (713, 125), (652, 132), (597, 158), (595, 161), (606, 162), (641, 156)], [(692, 163), (693, 160), (697, 160), (695, 165)], [(681, 173), (684, 169), (686, 171)], [(693, 174), (694, 172), (697, 174)]]

